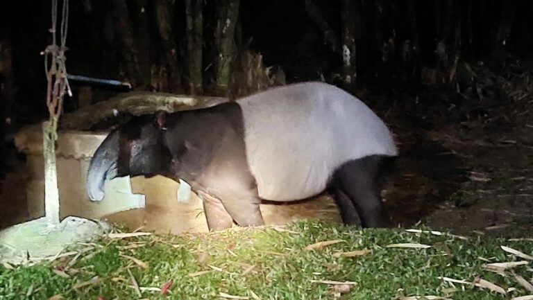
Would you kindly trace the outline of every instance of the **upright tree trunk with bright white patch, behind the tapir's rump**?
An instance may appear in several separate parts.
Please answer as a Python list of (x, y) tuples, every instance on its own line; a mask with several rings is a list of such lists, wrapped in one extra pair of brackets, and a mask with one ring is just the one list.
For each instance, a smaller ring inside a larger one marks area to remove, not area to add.
[(355, 91), (357, 79), (357, 46), (355, 44), (354, 1), (341, 1), (342, 23), (342, 80), (344, 89)]

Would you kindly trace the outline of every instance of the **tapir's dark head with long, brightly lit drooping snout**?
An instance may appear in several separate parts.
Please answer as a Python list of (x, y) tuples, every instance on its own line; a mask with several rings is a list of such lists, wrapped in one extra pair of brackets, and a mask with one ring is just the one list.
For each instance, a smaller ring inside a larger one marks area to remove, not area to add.
[(164, 113), (131, 116), (120, 114), (121, 122), (104, 139), (91, 159), (85, 190), (91, 200), (104, 197), (106, 180), (130, 175), (167, 173), (171, 155), (164, 143)]

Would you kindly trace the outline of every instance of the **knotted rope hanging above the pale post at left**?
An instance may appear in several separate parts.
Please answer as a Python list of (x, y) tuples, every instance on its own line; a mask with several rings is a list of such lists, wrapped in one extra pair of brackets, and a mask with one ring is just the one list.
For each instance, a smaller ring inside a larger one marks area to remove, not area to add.
[(57, 139), (58, 119), (62, 112), (63, 96), (65, 91), (72, 96), (67, 80), (67, 67), (65, 64), (67, 51), (67, 29), (69, 19), (69, 0), (63, 0), (62, 5), (62, 19), (60, 28), (60, 45), (56, 39), (56, 24), (58, 21), (58, 0), (52, 0), (52, 26), (50, 33), (52, 34), (52, 44), (46, 47), (41, 53), (44, 55), (44, 71), (46, 72), (47, 88), (46, 88), (46, 106), (50, 114), (49, 134), (53, 141)]

